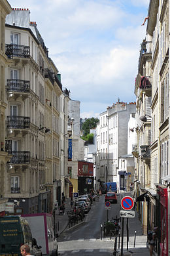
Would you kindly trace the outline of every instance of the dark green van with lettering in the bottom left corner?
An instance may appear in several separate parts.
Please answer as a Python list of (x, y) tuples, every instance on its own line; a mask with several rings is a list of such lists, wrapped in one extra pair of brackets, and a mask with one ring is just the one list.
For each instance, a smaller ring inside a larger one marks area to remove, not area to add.
[(35, 241), (24, 218), (17, 215), (0, 217), (0, 255), (19, 256), (20, 246), (27, 244), (31, 254), (41, 256), (41, 247)]

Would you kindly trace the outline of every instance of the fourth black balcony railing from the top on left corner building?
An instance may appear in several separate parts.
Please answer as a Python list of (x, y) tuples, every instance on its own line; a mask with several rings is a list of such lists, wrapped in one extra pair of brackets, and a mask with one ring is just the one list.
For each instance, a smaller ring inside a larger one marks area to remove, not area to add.
[(21, 164), (21, 163), (28, 164), (28, 163), (30, 163), (30, 152), (29, 151), (12, 151), (9, 153), (13, 155), (12, 158), (10, 158), (11, 164)]

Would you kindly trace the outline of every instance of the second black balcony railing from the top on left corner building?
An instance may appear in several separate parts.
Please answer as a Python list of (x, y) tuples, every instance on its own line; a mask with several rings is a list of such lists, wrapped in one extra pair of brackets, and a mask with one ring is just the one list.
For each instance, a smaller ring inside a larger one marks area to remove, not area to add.
[(7, 79), (7, 91), (29, 93), (30, 81), (25, 81), (20, 79)]

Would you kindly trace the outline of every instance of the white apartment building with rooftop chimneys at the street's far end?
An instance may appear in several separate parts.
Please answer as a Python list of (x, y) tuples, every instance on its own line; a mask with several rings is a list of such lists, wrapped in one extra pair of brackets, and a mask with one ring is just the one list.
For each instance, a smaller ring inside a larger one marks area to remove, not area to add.
[[(97, 166), (100, 173), (100, 184), (114, 181), (120, 187), (120, 178), (124, 173), (119, 173), (119, 158), (127, 154), (128, 121), (130, 115), (135, 114), (135, 102), (129, 104), (116, 102), (99, 116), (97, 125)], [(123, 177), (122, 177), (123, 176)]]

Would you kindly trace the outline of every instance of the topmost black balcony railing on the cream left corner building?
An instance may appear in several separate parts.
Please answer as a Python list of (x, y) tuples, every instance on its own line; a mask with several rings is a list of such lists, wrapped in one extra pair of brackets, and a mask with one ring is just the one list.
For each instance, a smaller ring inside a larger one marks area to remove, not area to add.
[(5, 45), (5, 54), (7, 54), (8, 58), (29, 58), (29, 46), (14, 44)]

